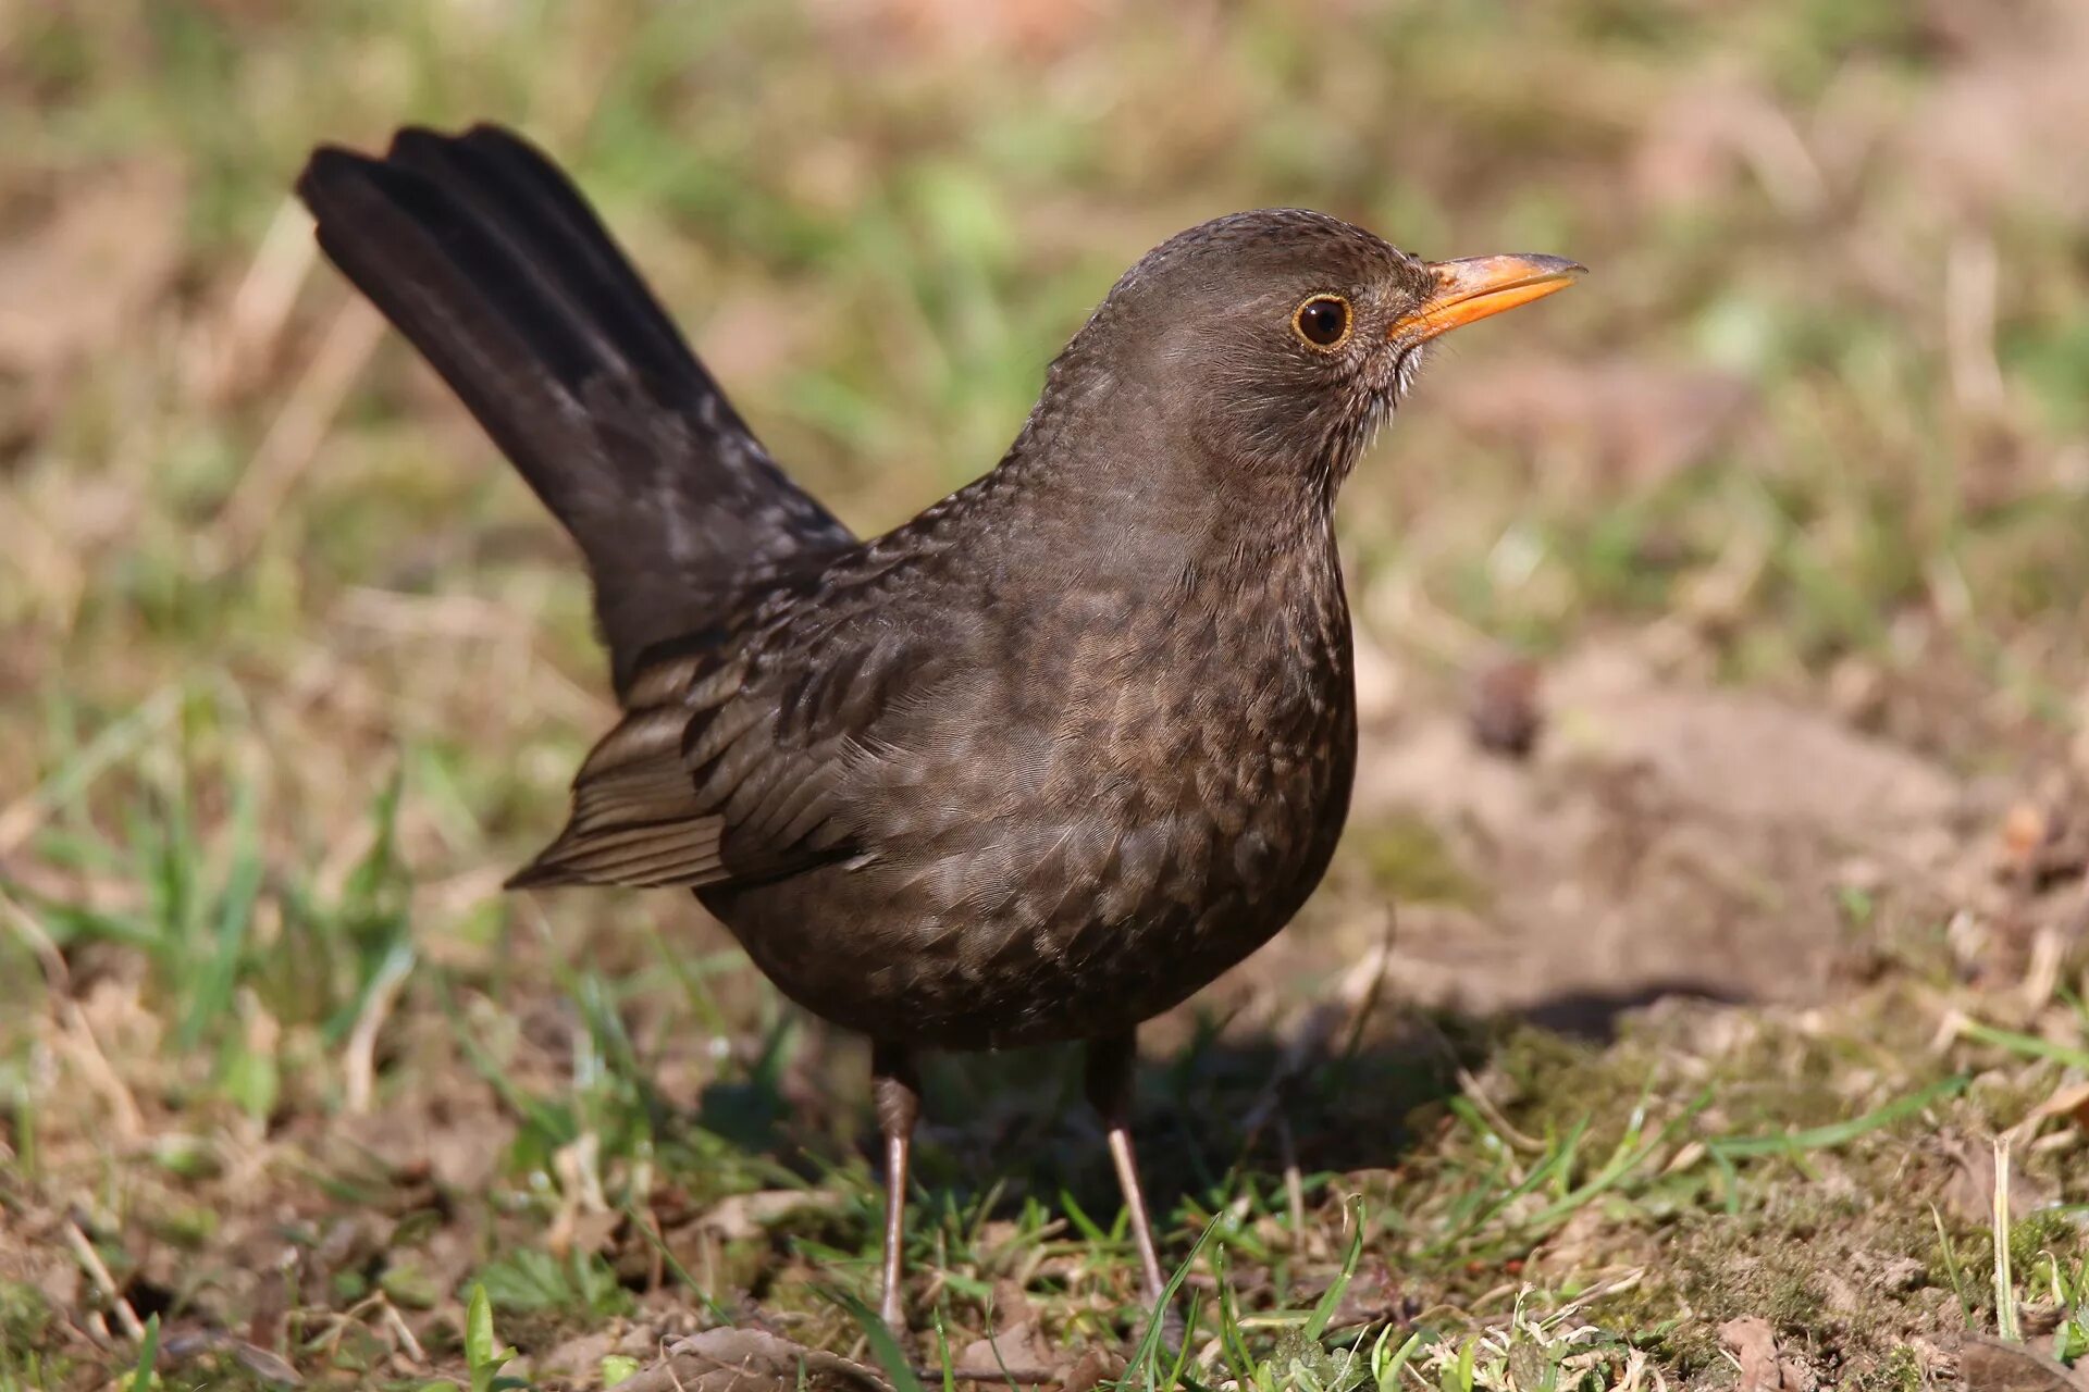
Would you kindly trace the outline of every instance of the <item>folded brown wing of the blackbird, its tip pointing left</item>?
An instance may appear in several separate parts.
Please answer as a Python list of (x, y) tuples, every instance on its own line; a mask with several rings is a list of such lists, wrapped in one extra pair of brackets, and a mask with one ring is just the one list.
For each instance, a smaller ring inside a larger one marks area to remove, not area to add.
[(865, 854), (846, 787), (938, 676), (879, 626), (788, 653), (662, 651), (581, 766), (566, 831), (510, 887), (748, 885)]

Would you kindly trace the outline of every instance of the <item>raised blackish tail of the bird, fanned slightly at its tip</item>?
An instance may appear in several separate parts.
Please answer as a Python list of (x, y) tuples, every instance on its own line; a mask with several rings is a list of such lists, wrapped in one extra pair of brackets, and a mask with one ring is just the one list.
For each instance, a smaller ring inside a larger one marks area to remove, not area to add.
[(311, 154), (320, 246), (426, 355), (587, 555), (639, 653), (848, 545), (748, 432), (572, 184), (495, 127)]

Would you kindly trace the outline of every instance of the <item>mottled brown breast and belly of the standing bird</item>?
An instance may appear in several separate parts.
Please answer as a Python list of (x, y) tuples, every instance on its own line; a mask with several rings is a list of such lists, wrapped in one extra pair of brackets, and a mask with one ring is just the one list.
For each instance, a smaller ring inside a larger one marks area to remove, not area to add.
[(1130, 1029), (1318, 883), (1356, 760), (1333, 568), (1026, 595), (959, 651), (844, 793), (863, 856), (723, 914), (821, 1014), (950, 1048)]

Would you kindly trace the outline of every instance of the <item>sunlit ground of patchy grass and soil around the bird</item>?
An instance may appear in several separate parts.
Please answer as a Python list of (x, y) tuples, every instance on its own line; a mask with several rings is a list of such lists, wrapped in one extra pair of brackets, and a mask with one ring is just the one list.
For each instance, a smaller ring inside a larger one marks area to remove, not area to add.
[[(0, 10), (0, 1390), (2089, 1384), (2085, 69), (2066, 0)], [(1180, 1357), (1072, 1060), (930, 1071), (896, 1352), (863, 1046), (499, 891), (587, 597), (286, 200), (474, 117), (859, 530), (1201, 217), (1592, 267), (1343, 499), (1349, 833), (1143, 1039)]]

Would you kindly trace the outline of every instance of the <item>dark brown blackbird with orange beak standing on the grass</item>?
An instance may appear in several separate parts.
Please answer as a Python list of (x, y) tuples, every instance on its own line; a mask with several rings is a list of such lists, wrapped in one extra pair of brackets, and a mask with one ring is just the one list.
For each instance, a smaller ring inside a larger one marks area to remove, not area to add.
[(762, 449), (572, 179), (499, 125), (311, 150), (324, 255), (579, 545), (620, 718), (512, 881), (681, 887), (871, 1041), (902, 1325), (923, 1052), (1082, 1043), (1151, 1302), (1136, 1031), (1318, 885), (1358, 718), (1335, 497), (1544, 255), (1260, 209), (1141, 257), (986, 474), (852, 534)]

